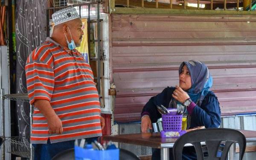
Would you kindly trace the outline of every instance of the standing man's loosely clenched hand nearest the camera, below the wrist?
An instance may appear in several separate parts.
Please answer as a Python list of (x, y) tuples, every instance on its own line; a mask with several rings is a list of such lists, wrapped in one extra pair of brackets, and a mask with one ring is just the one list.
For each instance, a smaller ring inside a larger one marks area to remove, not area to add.
[(47, 123), (49, 128), (49, 134), (62, 134), (62, 122), (61, 119), (55, 114), (47, 117)]

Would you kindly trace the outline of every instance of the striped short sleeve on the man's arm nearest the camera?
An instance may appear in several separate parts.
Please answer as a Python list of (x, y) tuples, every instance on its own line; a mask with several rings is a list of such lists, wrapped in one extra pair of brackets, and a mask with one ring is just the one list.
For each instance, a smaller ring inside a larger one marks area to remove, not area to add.
[(25, 67), (29, 102), (31, 105), (36, 99), (46, 99), (50, 102), (54, 88), (53, 68), (47, 61), (34, 60), (30, 57)]

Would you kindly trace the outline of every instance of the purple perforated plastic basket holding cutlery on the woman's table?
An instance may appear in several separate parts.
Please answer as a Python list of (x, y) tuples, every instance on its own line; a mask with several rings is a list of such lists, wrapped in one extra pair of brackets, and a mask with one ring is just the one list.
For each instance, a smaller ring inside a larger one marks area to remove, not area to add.
[(169, 114), (163, 114), (162, 115), (163, 120), (163, 131), (181, 131), (181, 125), (182, 125), (182, 115), (179, 114), (172, 114), (170, 112)]

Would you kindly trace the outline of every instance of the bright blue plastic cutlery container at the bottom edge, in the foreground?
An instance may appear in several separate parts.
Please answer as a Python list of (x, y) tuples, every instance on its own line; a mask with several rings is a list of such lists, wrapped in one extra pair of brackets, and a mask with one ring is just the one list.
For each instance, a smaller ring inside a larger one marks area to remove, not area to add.
[(75, 160), (119, 160), (119, 149), (100, 151), (75, 146)]

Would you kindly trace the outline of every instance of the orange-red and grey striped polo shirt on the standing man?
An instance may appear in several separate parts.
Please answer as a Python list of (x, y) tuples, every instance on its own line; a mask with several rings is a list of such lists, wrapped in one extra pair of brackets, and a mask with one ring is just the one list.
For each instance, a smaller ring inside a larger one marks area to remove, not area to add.
[(93, 72), (77, 50), (65, 50), (47, 38), (29, 55), (25, 71), (30, 104), (35, 99), (48, 100), (63, 126), (62, 134), (49, 134), (47, 119), (35, 108), (31, 143), (102, 136)]

